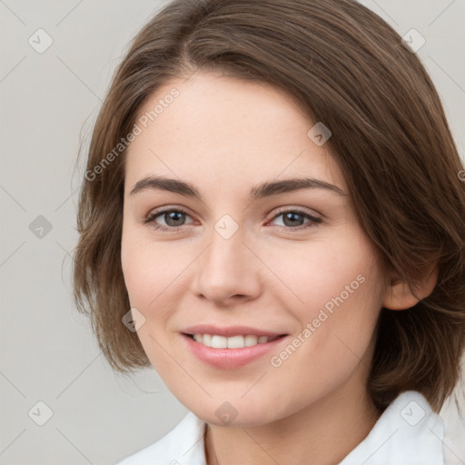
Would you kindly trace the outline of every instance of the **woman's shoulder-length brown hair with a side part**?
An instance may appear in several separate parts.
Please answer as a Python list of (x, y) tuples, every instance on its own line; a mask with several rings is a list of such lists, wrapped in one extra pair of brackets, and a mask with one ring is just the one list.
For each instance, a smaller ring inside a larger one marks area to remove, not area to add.
[(121, 372), (150, 365), (122, 323), (126, 151), (114, 148), (149, 94), (199, 69), (295, 97), (330, 128), (328, 148), (382, 262), (410, 284), (437, 263), (428, 297), (403, 312), (381, 309), (367, 389), (381, 410), (412, 389), (439, 411), (465, 345), (463, 165), (419, 58), (353, 0), (174, 0), (135, 37), (94, 125), (77, 217), (74, 299), (106, 359)]

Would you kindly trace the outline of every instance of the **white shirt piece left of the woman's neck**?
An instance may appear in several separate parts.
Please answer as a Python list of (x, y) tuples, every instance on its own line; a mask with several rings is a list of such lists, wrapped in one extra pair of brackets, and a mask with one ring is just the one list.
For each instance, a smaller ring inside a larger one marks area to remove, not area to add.
[(190, 411), (160, 440), (134, 452), (116, 465), (205, 465), (204, 425), (203, 420)]

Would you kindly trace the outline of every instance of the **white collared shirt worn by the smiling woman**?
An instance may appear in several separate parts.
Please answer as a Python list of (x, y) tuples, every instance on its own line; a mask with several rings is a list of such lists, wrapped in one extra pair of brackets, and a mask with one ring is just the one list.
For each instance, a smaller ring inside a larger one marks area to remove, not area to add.
[[(116, 465), (206, 465), (206, 423), (189, 412), (160, 440)], [(368, 436), (339, 465), (452, 465), (463, 463), (443, 444), (444, 422), (417, 391), (402, 392)]]

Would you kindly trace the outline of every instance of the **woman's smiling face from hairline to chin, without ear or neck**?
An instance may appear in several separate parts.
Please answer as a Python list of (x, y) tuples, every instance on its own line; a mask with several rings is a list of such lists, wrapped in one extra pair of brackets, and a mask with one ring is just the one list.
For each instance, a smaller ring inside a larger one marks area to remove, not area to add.
[(360, 397), (383, 276), (326, 130), (309, 135), (271, 86), (200, 72), (138, 117), (124, 281), (170, 391), (203, 420), (242, 426)]

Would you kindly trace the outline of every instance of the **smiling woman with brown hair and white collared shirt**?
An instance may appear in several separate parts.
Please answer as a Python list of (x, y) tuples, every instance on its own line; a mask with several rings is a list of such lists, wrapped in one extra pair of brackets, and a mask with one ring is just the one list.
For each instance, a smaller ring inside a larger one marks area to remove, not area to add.
[(367, 8), (166, 5), (114, 74), (78, 213), (105, 356), (191, 411), (121, 463), (451, 460), (462, 173), (428, 74)]

